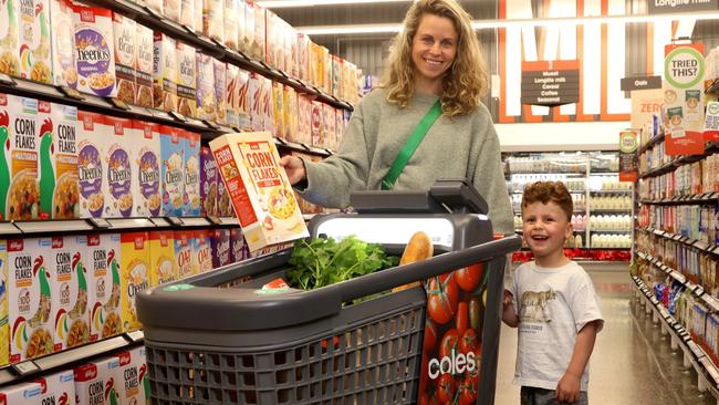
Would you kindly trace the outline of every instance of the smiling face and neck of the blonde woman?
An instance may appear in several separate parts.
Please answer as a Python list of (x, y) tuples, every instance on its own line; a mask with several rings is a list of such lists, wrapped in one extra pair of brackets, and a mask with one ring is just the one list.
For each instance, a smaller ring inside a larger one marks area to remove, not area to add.
[(411, 41), (411, 61), (415, 64), (415, 87), (423, 93), (438, 94), (441, 77), (457, 55), (458, 34), (446, 17), (425, 14)]

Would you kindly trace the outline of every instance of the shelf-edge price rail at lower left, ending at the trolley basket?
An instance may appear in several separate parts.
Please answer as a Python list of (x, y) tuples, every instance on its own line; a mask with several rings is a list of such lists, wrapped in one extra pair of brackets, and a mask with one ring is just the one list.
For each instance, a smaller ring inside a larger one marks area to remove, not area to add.
[(105, 339), (103, 341), (88, 343), (80, 347), (50, 354), (44, 357), (10, 364), (0, 368), (0, 386), (18, 383), (25, 378), (34, 378), (46, 374), (48, 371), (53, 368), (72, 367), (77, 363), (90, 360), (100, 354), (108, 354), (115, 350), (129, 349), (139, 345), (143, 341), (143, 332), (135, 331)]

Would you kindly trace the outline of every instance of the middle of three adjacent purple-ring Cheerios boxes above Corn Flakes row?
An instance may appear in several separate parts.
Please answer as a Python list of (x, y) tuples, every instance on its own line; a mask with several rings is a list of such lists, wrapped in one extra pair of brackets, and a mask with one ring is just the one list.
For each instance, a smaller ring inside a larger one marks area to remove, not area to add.
[(112, 136), (105, 155), (105, 217), (129, 218), (136, 216), (133, 201), (133, 172), (131, 145), (133, 139), (133, 121), (105, 116)]

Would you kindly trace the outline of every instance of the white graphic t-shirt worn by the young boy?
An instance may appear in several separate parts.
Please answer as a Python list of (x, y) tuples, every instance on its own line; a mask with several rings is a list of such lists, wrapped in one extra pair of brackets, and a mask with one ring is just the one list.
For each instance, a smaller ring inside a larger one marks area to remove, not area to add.
[[(600, 300), (590, 276), (571, 261), (559, 268), (535, 262), (514, 272), (511, 292), (519, 316), (519, 344), (514, 384), (556, 390), (574, 352), (577, 333), (600, 320)], [(597, 331), (598, 332), (598, 331)], [(588, 363), (581, 380), (587, 390)]]

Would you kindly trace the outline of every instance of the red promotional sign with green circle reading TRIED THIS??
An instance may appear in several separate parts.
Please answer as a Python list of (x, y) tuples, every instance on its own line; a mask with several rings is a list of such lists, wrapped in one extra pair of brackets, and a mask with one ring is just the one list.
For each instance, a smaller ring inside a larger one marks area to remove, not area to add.
[(668, 44), (664, 59), (667, 155), (704, 154), (704, 44)]

